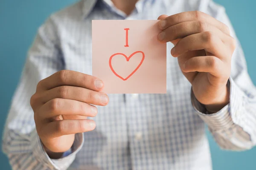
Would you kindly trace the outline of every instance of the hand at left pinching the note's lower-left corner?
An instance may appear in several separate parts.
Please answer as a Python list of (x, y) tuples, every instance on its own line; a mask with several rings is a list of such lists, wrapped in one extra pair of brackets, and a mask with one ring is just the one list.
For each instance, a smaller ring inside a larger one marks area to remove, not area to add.
[(99, 92), (103, 86), (102, 80), (96, 77), (68, 70), (52, 74), (38, 83), (30, 105), (38, 136), (48, 152), (69, 150), (75, 133), (96, 127), (87, 116), (96, 116), (97, 108), (93, 105), (108, 104), (107, 94)]

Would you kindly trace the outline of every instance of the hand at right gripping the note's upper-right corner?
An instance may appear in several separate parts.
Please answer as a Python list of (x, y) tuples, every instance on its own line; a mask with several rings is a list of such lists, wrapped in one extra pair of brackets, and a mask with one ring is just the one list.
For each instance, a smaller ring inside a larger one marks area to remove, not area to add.
[(229, 28), (215, 18), (189, 11), (161, 15), (158, 34), (161, 42), (172, 42), (184, 76), (192, 84), (196, 99), (214, 113), (229, 103), (227, 81), (236, 41)]

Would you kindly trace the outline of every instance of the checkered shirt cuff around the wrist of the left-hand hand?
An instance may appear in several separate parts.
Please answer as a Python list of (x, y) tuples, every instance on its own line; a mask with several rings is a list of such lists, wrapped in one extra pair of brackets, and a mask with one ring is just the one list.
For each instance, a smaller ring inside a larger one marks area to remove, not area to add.
[(41, 143), (41, 140), (36, 130), (33, 130), (31, 132), (30, 141), (32, 144), (33, 156), (35, 156), (35, 159), (37, 159), (39, 162), (44, 164), (44, 166), (48, 167), (49, 169), (63, 170), (67, 169), (70, 166), (70, 164), (72, 164), (72, 162), (76, 158), (76, 153), (79, 152), (79, 150), (81, 150), (81, 147), (84, 144), (84, 134), (76, 134), (75, 141), (71, 148), (71, 153), (68, 156), (64, 156), (60, 159), (49, 158), (46, 151), (44, 150), (43, 144)]

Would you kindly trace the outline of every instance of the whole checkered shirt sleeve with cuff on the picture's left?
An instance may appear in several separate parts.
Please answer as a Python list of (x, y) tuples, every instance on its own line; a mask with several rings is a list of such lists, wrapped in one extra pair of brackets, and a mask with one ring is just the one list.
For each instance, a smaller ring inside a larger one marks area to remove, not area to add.
[(65, 170), (73, 162), (84, 142), (83, 133), (76, 134), (68, 156), (50, 159), (35, 130), (30, 97), (35, 93), (37, 83), (41, 79), (64, 69), (57, 26), (54, 17), (51, 16), (38, 29), (12, 99), (2, 149), (8, 156), (13, 170)]

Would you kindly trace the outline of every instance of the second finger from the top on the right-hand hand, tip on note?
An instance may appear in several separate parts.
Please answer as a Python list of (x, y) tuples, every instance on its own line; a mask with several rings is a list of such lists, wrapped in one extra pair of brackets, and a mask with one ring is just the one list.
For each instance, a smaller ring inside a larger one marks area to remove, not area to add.
[(222, 42), (229, 36), (211, 24), (201, 21), (188, 21), (166, 28), (158, 34), (158, 40), (161, 42), (169, 42), (206, 31), (215, 32), (215, 34), (221, 38)]

